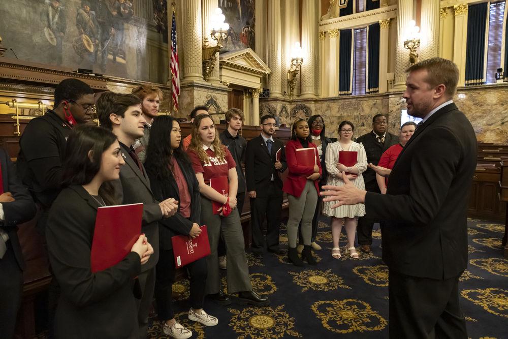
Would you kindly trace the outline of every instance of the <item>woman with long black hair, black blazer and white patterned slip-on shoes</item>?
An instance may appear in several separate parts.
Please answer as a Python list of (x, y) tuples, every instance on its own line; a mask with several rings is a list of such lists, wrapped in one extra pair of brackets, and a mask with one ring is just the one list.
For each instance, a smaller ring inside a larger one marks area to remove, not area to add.
[[(174, 198), (179, 201), (178, 212), (159, 222), (160, 253), (155, 267), (155, 299), (157, 314), (164, 322), (164, 333), (176, 338), (188, 338), (192, 331), (175, 320), (172, 306), (172, 285), (175, 282), (175, 258), (171, 237), (197, 237), (201, 219), (201, 197), (198, 180), (187, 154), (182, 150), (178, 121), (162, 115), (154, 119), (146, 152), (145, 168), (150, 178), (153, 196), (159, 201)], [(206, 283), (206, 260), (198, 259), (185, 266), (190, 279), (188, 319), (206, 326), (217, 325), (217, 318), (203, 310)]]

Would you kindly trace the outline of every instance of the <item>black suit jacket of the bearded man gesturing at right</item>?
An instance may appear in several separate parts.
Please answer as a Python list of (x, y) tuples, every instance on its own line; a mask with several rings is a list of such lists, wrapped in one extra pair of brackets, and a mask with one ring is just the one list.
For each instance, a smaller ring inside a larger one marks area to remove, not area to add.
[(402, 149), (387, 195), (367, 192), (367, 214), (386, 220), (391, 270), (449, 279), (467, 265), (467, 205), (477, 158), (471, 123), (455, 104), (435, 112)]

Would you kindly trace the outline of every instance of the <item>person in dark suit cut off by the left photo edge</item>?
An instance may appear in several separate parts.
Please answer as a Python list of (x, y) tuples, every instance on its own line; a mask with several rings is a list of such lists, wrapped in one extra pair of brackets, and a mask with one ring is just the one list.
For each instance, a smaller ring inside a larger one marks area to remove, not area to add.
[(34, 218), (34, 200), (21, 180), (7, 152), (0, 149), (0, 336), (12, 338), (21, 305), (25, 262), (19, 245), (18, 224)]

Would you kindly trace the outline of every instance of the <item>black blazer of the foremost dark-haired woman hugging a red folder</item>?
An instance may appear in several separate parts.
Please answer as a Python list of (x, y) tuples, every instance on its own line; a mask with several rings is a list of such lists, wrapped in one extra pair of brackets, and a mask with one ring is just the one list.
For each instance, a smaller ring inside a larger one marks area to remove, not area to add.
[(137, 338), (133, 295), (140, 258), (131, 252), (118, 264), (91, 273), (90, 252), (99, 203), (82, 186), (63, 189), (46, 227), (49, 260), (61, 288), (56, 338)]

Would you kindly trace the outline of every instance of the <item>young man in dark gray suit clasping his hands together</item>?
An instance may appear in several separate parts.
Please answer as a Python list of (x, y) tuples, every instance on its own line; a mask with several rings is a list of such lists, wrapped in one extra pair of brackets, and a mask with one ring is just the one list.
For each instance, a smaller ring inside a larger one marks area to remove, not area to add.
[(134, 140), (143, 136), (146, 122), (141, 114), (141, 100), (133, 94), (106, 92), (97, 101), (97, 115), (101, 126), (112, 130), (118, 137), (121, 156), (125, 160), (125, 165), (120, 168), (120, 178), (113, 182), (117, 200), (122, 204), (143, 203), (142, 232), (153, 246), (153, 254), (138, 276), (142, 293), (138, 304), (139, 337), (146, 338), (159, 250), (157, 222), (173, 215), (178, 205), (172, 198), (160, 203), (153, 198), (146, 170), (132, 147)]

